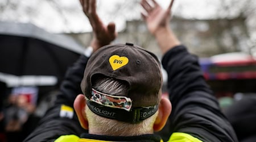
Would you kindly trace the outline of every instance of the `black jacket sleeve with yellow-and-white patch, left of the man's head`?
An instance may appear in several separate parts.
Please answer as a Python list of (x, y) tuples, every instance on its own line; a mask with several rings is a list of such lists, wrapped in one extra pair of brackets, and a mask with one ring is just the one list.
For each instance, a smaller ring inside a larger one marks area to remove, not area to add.
[(82, 131), (79, 120), (73, 110), (73, 102), (81, 94), (80, 82), (88, 57), (80, 58), (67, 70), (61, 83), (60, 93), (55, 105), (46, 112), (36, 129), (24, 141), (54, 141), (61, 135), (80, 135)]

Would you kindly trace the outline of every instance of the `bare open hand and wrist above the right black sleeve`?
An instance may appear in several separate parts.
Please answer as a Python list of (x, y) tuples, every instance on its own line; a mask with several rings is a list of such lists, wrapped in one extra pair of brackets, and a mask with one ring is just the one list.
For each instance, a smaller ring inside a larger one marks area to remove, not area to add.
[[(148, 1), (151, 1), (151, 5)], [(148, 31), (155, 36), (156, 41), (162, 53), (166, 53), (171, 48), (180, 45), (180, 41), (172, 32), (169, 22), (171, 7), (174, 0), (171, 1), (167, 10), (162, 9), (155, 0), (142, 0), (141, 5), (146, 13), (142, 12), (142, 18), (147, 23)]]

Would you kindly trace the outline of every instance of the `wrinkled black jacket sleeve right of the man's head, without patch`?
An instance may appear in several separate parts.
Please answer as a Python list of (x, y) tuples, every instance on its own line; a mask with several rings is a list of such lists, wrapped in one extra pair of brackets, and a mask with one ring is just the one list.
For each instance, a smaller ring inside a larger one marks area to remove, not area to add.
[(202, 141), (237, 141), (204, 80), (197, 57), (180, 45), (164, 55), (162, 64), (172, 103), (170, 132), (188, 133)]

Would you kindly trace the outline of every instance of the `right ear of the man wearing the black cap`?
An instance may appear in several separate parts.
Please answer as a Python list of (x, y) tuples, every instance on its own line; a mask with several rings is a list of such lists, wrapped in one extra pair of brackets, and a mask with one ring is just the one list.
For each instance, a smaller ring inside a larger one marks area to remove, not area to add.
[(172, 111), (172, 105), (167, 97), (162, 96), (158, 108), (158, 116), (154, 123), (154, 131), (160, 131), (166, 124)]

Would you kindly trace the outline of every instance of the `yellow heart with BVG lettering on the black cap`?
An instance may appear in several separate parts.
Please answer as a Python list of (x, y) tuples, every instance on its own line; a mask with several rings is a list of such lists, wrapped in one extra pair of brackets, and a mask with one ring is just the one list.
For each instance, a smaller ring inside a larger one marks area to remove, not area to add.
[(129, 59), (125, 56), (113, 55), (109, 58), (109, 63), (113, 70), (117, 70), (122, 66), (125, 66), (129, 62)]

